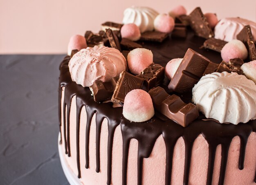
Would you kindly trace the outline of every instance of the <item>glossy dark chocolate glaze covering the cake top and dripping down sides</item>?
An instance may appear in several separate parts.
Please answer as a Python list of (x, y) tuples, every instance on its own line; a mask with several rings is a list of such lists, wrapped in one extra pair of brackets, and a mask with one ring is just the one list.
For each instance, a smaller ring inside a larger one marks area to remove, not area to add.
[[(200, 49), (200, 46), (204, 43), (204, 39), (194, 36), (194, 34), (189, 31), (186, 38), (171, 38), (168, 37), (162, 43), (155, 42), (141, 42), (144, 48), (152, 50), (154, 55), (154, 62), (166, 66), (166, 63), (173, 58), (182, 58), (186, 53), (188, 48), (192, 48), (198, 53), (209, 58), (212, 62), (220, 63), (220, 54), (215, 51), (206, 51)], [(183, 137), (185, 143), (185, 167), (184, 167), (184, 179), (183, 184), (188, 185), (189, 183), (189, 170), (191, 164), (191, 153), (192, 146), (195, 139), (199, 134), (202, 134), (209, 144), (209, 162), (208, 162), (208, 172), (207, 172), (207, 185), (211, 185), (213, 165), (215, 159), (215, 152), (217, 145), (221, 145), (222, 148), (222, 159), (220, 167), (220, 178), (219, 185), (224, 184), (225, 171), (227, 166), (227, 157), (229, 151), (229, 145), (235, 136), (240, 137), (240, 156), (239, 156), (239, 169), (243, 170), (244, 159), (245, 159), (245, 148), (247, 140), (251, 132), (256, 132), (256, 120), (249, 121), (248, 123), (239, 123), (238, 125), (233, 124), (220, 124), (212, 119), (205, 120), (204, 115), (200, 113), (200, 116), (189, 124), (187, 127), (182, 127), (170, 119), (164, 118), (164, 116), (156, 115), (149, 121), (143, 123), (131, 123), (125, 119), (122, 115), (122, 108), (113, 108), (112, 103), (99, 104), (96, 103), (91, 96), (91, 91), (89, 88), (83, 88), (81, 85), (76, 84), (72, 81), (70, 77), (70, 72), (68, 68), (68, 62), (70, 60), (69, 56), (66, 56), (61, 63), (60, 70), (60, 84), (59, 84), (59, 120), (61, 127), (61, 111), (63, 115), (67, 115), (67, 121), (63, 121), (64, 126), (64, 144), (65, 153), (68, 156), (72, 155), (70, 151), (70, 106), (71, 100), (74, 95), (76, 95), (76, 158), (77, 158), (77, 168), (78, 177), (81, 177), (81, 166), (80, 166), (80, 156), (79, 156), (79, 127), (80, 124), (85, 124), (80, 122), (80, 115), (82, 107), (85, 106), (87, 112), (87, 125), (85, 133), (85, 168), (90, 165), (89, 160), (89, 134), (90, 134), (90, 123), (93, 115), (96, 113), (96, 159), (97, 167), (96, 172), (100, 171), (100, 134), (101, 125), (104, 118), (108, 119), (108, 180), (107, 184), (111, 184), (111, 171), (112, 171), (112, 145), (115, 128), (120, 124), (121, 132), (123, 137), (123, 171), (122, 171), (122, 184), (127, 183), (127, 164), (128, 164), (128, 151), (129, 144), (132, 138), (138, 141), (138, 185), (142, 182), (142, 166), (143, 158), (148, 158), (152, 152), (153, 146), (157, 138), (162, 134), (164, 142), (166, 144), (166, 173), (165, 173), (165, 184), (171, 184), (171, 170), (172, 170), (172, 159), (173, 150), (175, 143), (178, 138)], [(163, 87), (165, 89), (168, 84), (168, 80), (165, 79)], [(65, 97), (64, 97), (64, 107), (61, 110), (61, 89), (65, 86)], [(191, 93), (181, 96), (184, 102), (191, 101)], [(67, 112), (66, 112), (67, 107)], [(202, 120), (204, 119), (204, 120)], [(67, 122), (67, 123), (66, 123)], [(67, 133), (66, 129), (67, 128)], [(62, 141), (60, 142), (62, 143)], [(83, 166), (82, 166), (83, 167)], [(255, 175), (256, 183), (256, 175)]]

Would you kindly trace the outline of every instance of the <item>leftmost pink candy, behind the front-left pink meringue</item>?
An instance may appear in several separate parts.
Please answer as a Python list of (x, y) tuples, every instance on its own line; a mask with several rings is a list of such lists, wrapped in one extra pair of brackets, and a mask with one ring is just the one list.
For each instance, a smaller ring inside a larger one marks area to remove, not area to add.
[(73, 35), (67, 46), (67, 55), (71, 55), (73, 49), (81, 50), (87, 48), (85, 37), (82, 35)]

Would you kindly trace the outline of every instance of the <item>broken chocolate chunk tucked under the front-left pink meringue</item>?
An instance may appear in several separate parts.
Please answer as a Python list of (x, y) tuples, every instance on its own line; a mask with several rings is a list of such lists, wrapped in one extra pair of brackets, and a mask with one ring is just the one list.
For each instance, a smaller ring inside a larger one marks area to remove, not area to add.
[(92, 91), (94, 101), (103, 101), (110, 99), (117, 85), (118, 77), (112, 78), (110, 81), (95, 81), (89, 88)]

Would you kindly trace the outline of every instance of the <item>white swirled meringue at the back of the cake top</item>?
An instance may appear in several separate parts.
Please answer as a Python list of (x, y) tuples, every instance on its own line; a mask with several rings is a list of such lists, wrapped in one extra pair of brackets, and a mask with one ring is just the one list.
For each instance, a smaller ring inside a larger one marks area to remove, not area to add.
[(148, 7), (130, 7), (125, 9), (123, 24), (134, 23), (141, 33), (153, 31), (154, 20), (159, 13)]

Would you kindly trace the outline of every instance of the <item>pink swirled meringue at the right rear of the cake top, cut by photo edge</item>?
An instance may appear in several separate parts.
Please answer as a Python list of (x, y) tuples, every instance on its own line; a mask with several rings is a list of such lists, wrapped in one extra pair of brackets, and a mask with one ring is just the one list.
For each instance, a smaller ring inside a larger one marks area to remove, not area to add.
[(244, 28), (250, 25), (254, 41), (256, 41), (256, 23), (242, 18), (224, 18), (215, 26), (214, 34), (216, 39), (227, 42), (236, 39), (236, 35)]

